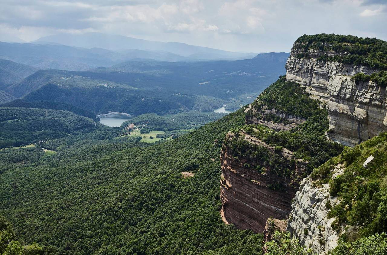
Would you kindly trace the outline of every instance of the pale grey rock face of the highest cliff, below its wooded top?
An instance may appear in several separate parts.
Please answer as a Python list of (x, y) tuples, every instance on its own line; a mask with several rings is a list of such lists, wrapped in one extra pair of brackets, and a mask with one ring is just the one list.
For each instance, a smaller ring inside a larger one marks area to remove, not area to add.
[(298, 46), (293, 45), (286, 62), (286, 80), (298, 82), (311, 98), (327, 103), (330, 139), (354, 146), (387, 130), (386, 88), (351, 80), (358, 72), (370, 75), (377, 70), (318, 60), (322, 55), (337, 55), (334, 51), (309, 49), (308, 58), (297, 58), (304, 53)]

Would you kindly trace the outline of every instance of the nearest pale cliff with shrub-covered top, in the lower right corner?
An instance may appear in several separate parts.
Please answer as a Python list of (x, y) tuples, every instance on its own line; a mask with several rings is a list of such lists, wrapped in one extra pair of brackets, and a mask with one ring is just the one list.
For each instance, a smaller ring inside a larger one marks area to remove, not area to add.
[(386, 149), (384, 132), (314, 169), (296, 193), (288, 231), (317, 254), (332, 251), (340, 237), (385, 232)]

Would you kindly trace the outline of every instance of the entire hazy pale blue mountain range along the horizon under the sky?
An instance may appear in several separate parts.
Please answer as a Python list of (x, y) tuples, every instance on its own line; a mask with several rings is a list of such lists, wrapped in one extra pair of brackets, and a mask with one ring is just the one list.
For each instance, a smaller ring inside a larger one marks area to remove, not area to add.
[(38, 69), (82, 71), (110, 67), (128, 60), (197, 62), (253, 58), (237, 53), (101, 33), (57, 34), (31, 43), (0, 42), (0, 58)]

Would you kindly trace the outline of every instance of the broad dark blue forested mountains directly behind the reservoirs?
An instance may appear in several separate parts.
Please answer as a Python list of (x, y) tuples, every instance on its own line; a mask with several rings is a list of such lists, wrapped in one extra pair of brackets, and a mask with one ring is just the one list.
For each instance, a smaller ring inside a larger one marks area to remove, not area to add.
[[(57, 101), (94, 113), (177, 113), (238, 108), (285, 72), (289, 53), (236, 61), (132, 60), (87, 71), (39, 70), (5, 88), (24, 101)], [(15, 105), (18, 106), (18, 105)]]

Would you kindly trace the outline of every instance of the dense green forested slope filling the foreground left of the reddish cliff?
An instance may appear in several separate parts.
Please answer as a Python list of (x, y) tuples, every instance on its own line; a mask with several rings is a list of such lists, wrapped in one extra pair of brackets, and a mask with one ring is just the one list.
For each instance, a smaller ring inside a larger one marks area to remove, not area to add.
[[(80, 146), (7, 164), (0, 213), (22, 243), (61, 254), (260, 254), (259, 234), (219, 216), (219, 148), (243, 123), (240, 110), (151, 147)], [(184, 171), (195, 176), (182, 178)]]

